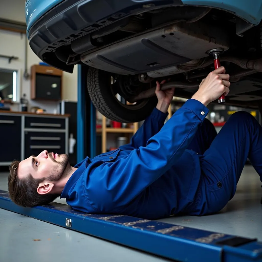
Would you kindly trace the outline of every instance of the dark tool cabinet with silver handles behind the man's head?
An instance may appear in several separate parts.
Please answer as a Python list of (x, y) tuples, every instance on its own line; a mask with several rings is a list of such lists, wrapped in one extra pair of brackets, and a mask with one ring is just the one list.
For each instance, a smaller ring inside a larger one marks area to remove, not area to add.
[(0, 166), (43, 150), (68, 154), (68, 115), (0, 112)]

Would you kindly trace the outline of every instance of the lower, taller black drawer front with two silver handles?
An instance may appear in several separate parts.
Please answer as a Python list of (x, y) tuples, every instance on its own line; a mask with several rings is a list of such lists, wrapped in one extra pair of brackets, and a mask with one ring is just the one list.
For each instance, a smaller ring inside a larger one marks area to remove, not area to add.
[(25, 158), (37, 156), (43, 150), (57, 154), (65, 153), (65, 133), (25, 131)]

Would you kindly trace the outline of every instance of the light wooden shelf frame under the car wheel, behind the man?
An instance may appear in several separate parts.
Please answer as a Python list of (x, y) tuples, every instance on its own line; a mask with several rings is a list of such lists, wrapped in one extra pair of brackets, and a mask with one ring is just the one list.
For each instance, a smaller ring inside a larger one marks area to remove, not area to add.
[(106, 117), (102, 116), (102, 128), (97, 128), (97, 133), (102, 133), (102, 153), (106, 152), (107, 133), (135, 134), (138, 130), (138, 123), (133, 123), (133, 128), (106, 127)]

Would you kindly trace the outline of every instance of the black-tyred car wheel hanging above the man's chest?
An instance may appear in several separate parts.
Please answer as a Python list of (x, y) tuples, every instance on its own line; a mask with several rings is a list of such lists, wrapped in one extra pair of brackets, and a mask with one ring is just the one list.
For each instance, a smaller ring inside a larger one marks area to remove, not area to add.
[(128, 95), (136, 95), (138, 90), (141, 92), (145, 88), (150, 88), (151, 85), (138, 83), (138, 81), (133, 84), (134, 81), (129, 81), (130, 79), (123, 84), (123, 78), (127, 79), (128, 76), (116, 78), (111, 73), (90, 67), (87, 75), (90, 99), (101, 114), (113, 121), (122, 123), (143, 121), (156, 106), (156, 96), (127, 104), (119, 101), (116, 95), (124, 96), (125, 100), (128, 101)]

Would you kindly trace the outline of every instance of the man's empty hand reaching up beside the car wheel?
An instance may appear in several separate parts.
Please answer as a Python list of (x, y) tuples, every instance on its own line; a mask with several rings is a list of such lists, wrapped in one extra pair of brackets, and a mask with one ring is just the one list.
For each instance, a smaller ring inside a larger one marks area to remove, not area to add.
[(168, 107), (173, 99), (175, 88), (172, 87), (170, 89), (161, 90), (161, 85), (165, 84), (166, 80), (163, 80), (161, 83), (156, 82), (156, 97), (158, 99), (158, 103), (156, 108), (163, 113), (166, 113)]

